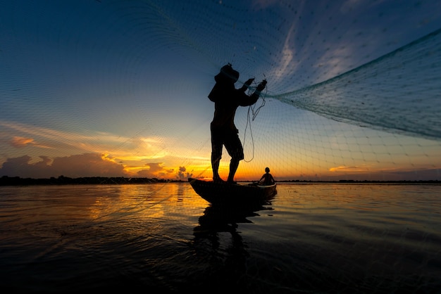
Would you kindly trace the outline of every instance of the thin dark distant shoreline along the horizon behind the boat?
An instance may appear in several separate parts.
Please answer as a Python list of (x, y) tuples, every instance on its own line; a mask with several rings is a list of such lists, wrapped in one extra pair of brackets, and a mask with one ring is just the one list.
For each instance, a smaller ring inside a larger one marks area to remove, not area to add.
[[(156, 178), (127, 178), (127, 177), (51, 177), (49, 179), (32, 179), (20, 177), (3, 176), (0, 178), (0, 186), (31, 186), (31, 185), (87, 185), (87, 184), (156, 184), (156, 183), (186, 183), (187, 179), (156, 179)], [(244, 183), (252, 181), (243, 181)], [(439, 180), (426, 181), (307, 181), (307, 180), (285, 180), (277, 181), (278, 184), (441, 184)]]

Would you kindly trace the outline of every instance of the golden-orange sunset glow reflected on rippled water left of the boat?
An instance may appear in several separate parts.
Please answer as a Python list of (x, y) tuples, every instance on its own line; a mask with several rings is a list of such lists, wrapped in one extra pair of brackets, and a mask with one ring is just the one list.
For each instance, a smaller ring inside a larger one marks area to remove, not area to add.
[(0, 240), (22, 236), (18, 242), (28, 245), (34, 241), (27, 236), (49, 243), (101, 234), (102, 241), (156, 238), (196, 226), (208, 205), (187, 183), (11, 186), (2, 187), (1, 196), (1, 222), (13, 229), (3, 231)]

